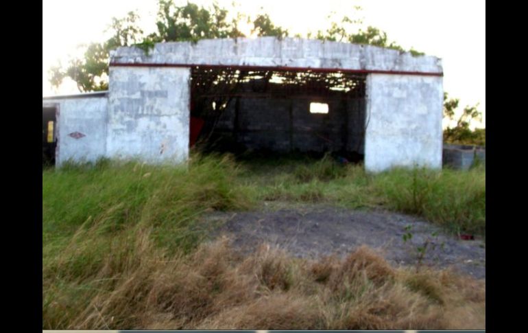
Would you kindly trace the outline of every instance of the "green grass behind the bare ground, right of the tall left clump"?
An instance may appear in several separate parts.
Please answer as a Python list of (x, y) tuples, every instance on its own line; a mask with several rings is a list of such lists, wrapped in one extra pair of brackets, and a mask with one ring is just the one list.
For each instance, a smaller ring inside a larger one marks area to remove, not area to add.
[(326, 202), (350, 208), (383, 208), (422, 216), (453, 233), (485, 237), (485, 168), (396, 168), (368, 174), (362, 165), (321, 160), (245, 163), (242, 180), (258, 200)]

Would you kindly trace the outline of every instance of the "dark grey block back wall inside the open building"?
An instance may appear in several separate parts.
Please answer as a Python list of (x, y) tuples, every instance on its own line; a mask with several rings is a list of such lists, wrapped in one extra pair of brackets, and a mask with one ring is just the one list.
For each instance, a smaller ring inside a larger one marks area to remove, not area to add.
[[(310, 113), (307, 99), (244, 98), (239, 100), (237, 141), (251, 149), (278, 152), (347, 150), (363, 153), (364, 101), (324, 100), (328, 114)], [(215, 130), (235, 128), (236, 100), (221, 115)]]

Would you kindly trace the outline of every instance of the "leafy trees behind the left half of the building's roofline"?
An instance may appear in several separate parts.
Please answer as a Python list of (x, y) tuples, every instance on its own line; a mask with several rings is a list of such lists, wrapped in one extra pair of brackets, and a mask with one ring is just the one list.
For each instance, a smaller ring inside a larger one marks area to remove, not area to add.
[[(49, 82), (53, 87), (58, 87), (64, 78), (71, 78), (81, 92), (106, 90), (110, 50), (117, 47), (135, 45), (147, 51), (160, 42), (195, 43), (203, 38), (244, 36), (239, 30), (239, 22), (244, 19), (244, 15), (237, 12), (233, 19), (228, 20), (228, 10), (217, 3), (212, 8), (204, 8), (190, 2), (177, 6), (173, 0), (159, 0), (156, 32), (148, 36), (143, 36), (143, 31), (137, 26), (138, 19), (139, 15), (134, 12), (122, 19), (112, 19), (108, 28), (113, 32), (112, 37), (104, 43), (82, 45), (86, 47), (84, 57), (69, 60), (65, 68), (60, 63), (51, 67)], [(267, 14), (257, 16), (253, 23), (254, 31), (259, 36), (287, 36), (287, 31), (274, 25)]]

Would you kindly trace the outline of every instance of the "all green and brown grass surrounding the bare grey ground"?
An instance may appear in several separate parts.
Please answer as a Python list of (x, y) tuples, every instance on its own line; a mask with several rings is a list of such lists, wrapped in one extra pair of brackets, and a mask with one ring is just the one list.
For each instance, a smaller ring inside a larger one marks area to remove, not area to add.
[(43, 328), (484, 328), (483, 283), (448, 272), (395, 270), (368, 249), (312, 262), (203, 243), (206, 211), (262, 200), (382, 207), (485, 235), (482, 169), (372, 175), (328, 156), (67, 163), (43, 170)]

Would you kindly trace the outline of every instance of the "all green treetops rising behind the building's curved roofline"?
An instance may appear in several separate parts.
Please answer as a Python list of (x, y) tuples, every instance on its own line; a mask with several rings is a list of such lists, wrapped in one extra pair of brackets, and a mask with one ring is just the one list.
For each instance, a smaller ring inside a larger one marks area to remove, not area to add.
[[(107, 31), (112, 36), (103, 43), (82, 45), (86, 50), (82, 58), (72, 58), (66, 66), (58, 64), (49, 69), (49, 82), (53, 87), (59, 87), (64, 78), (70, 78), (77, 83), (81, 92), (103, 91), (108, 89), (108, 60), (110, 50), (120, 46), (135, 45), (147, 51), (155, 43), (172, 41), (191, 41), (193, 43), (204, 38), (237, 38), (245, 37), (239, 29), (240, 23), (247, 21), (252, 25), (251, 33), (256, 36), (276, 36), (284, 38), (289, 32), (276, 25), (269, 14), (257, 14), (255, 17), (246, 16), (237, 11), (235, 5), (230, 9), (234, 15), (229, 16), (229, 10), (213, 3), (211, 8), (187, 2), (176, 5), (173, 0), (158, 0), (158, 14), (156, 16), (156, 31), (145, 35), (138, 26), (139, 15), (129, 12), (121, 19), (113, 18)], [(355, 7), (359, 11), (361, 8)], [(328, 19), (332, 19), (330, 16)], [(344, 16), (338, 22), (331, 23), (326, 31), (318, 31), (315, 38), (324, 41), (346, 41), (349, 43), (363, 43), (381, 47), (389, 47), (403, 51), (394, 42), (389, 43), (387, 33), (376, 27), (355, 32), (354, 25), (361, 23), (359, 19)], [(302, 37), (299, 34), (296, 36)], [(307, 33), (307, 38), (312, 38)], [(414, 55), (419, 52), (410, 50)]]

